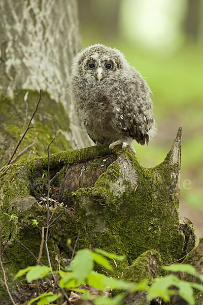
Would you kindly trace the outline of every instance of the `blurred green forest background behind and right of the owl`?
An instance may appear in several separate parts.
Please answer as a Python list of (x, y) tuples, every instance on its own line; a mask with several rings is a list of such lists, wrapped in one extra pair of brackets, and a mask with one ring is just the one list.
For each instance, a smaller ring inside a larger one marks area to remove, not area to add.
[(147, 78), (157, 135), (134, 143), (145, 167), (162, 162), (183, 128), (180, 218), (203, 236), (203, 1), (79, 0), (83, 47), (120, 49)]

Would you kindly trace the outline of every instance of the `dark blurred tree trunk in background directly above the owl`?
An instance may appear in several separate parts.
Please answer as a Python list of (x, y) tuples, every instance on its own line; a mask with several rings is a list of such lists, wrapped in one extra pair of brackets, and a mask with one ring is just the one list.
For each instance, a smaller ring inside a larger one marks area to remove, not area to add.
[(116, 39), (119, 35), (120, 4), (121, 0), (78, 0), (79, 19), (87, 24), (91, 20), (89, 26), (94, 24), (98, 33), (105, 33), (105, 39), (108, 39), (109, 33)]

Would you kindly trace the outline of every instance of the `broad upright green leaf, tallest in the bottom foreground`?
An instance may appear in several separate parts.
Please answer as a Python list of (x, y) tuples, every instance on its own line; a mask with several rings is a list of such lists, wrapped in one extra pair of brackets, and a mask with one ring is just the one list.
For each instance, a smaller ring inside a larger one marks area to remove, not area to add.
[(88, 249), (79, 250), (71, 263), (74, 278), (77, 279), (78, 283), (83, 282), (88, 277), (93, 267), (93, 257)]

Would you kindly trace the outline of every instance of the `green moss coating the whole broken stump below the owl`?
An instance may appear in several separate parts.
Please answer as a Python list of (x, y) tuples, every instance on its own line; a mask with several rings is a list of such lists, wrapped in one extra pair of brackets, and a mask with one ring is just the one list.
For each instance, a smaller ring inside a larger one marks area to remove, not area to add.
[[(117, 149), (119, 150), (120, 147), (115, 149), (115, 153)], [(98, 149), (95, 146), (51, 154), (51, 177), (59, 171), (57, 183), (60, 185), (71, 164), (82, 163), (106, 154), (107, 147)], [(55, 251), (58, 255), (61, 252), (65, 252), (67, 256), (71, 255), (67, 247), (67, 239), (71, 238), (72, 246), (74, 246), (80, 231), (77, 250), (92, 247), (125, 255), (126, 259), (117, 262), (117, 267), (112, 261), (111, 275), (121, 276), (121, 273), (126, 270), (128, 278), (133, 277), (132, 270), (136, 273), (135, 270), (141, 264), (143, 268), (138, 268), (137, 278), (134, 278), (139, 281), (143, 274), (147, 277), (147, 259), (152, 254), (150, 249), (154, 249), (153, 253), (157, 256), (156, 251), (160, 253), (163, 263), (175, 261), (183, 256), (185, 237), (178, 230), (178, 200), (171, 196), (171, 190), (167, 187), (171, 183), (167, 165), (161, 164), (145, 169), (139, 165), (136, 157), (128, 149), (125, 149), (122, 155), (116, 154), (116, 158), (119, 158), (119, 161), (118, 159), (114, 161), (98, 177), (92, 187), (72, 193), (75, 203), (74, 212), (64, 207), (50, 210), (52, 220), (59, 217), (50, 228), (50, 253), (53, 254)], [(121, 164), (125, 160), (132, 166), (133, 177), (137, 181), (129, 180), (127, 172), (126, 179), (122, 176)], [(99, 159), (90, 162), (89, 170), (96, 169), (100, 166), (100, 162)], [(33, 191), (36, 192), (35, 196), (40, 196), (39, 191), (43, 191), (43, 185), (46, 190), (47, 166), (48, 158), (44, 156), (11, 165), (0, 174), (2, 211), (19, 217), (20, 226), (12, 222), (13, 234), (17, 239), (22, 240), (36, 256), (39, 253), (41, 240), (39, 228), (46, 227), (46, 208), (32, 204), (30, 186), (32, 187), (32, 181), (35, 181)], [(136, 188), (132, 187), (133, 183), (137, 184)], [(69, 190), (62, 190), (61, 198), (64, 199), (70, 195)], [(23, 209), (25, 202), (23, 200), (28, 197), (30, 197), (30, 206)], [(19, 201), (22, 203), (21, 210)], [(38, 227), (31, 225), (33, 218), (39, 222)], [(8, 227), (8, 216), (1, 214), (1, 221), (4, 228)], [(10, 238), (9, 229), (5, 229), (5, 240)], [(20, 267), (35, 263), (33, 258), (27, 256), (25, 249), (22, 256), (20, 249), (21, 246), (10, 239), (8, 257), (11, 256), (13, 259), (16, 255)], [(143, 254), (144, 252), (146, 253)], [(25, 256), (27, 260), (24, 259)], [(42, 261), (47, 263), (45, 253)], [(52, 263), (54, 266), (54, 256), (52, 256)], [(130, 267), (126, 269), (129, 264), (131, 269)]]

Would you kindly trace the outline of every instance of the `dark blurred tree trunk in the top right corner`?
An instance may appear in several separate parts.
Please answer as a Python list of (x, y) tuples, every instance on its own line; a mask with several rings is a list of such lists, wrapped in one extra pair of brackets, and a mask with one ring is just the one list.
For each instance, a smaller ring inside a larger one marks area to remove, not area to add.
[(186, 15), (183, 24), (186, 39), (197, 43), (201, 26), (201, 0), (187, 0)]

